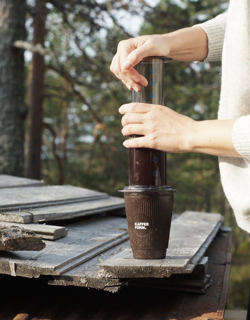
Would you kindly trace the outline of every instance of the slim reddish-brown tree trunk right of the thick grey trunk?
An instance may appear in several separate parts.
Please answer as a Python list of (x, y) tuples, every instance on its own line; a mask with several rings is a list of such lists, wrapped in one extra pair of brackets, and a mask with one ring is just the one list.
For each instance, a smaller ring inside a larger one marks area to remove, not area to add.
[[(46, 0), (36, 0), (34, 15), (33, 44), (44, 45)], [(33, 54), (32, 76), (28, 90), (29, 117), (28, 117), (28, 154), (27, 177), (41, 178), (41, 144), (42, 144), (42, 102), (44, 57), (38, 53)]]

